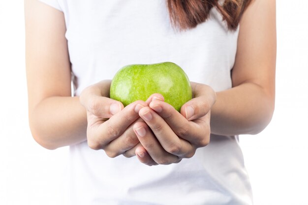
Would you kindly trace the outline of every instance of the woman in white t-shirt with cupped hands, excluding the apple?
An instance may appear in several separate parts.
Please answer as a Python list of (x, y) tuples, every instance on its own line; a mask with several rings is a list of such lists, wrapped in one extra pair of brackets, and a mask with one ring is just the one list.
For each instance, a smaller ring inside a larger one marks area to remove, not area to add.
[[(238, 135), (273, 115), (275, 0), (41, 1), (25, 3), (30, 127), (70, 146), (70, 204), (252, 204)], [(163, 61), (192, 81), (181, 113), (108, 98), (122, 66)]]

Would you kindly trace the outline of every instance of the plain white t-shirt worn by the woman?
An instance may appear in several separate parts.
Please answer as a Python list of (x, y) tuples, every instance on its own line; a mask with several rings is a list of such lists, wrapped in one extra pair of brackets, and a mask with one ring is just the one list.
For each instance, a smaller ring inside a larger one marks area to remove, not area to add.
[[(195, 29), (174, 30), (166, 0), (41, 0), (64, 13), (75, 95), (127, 64), (175, 62), (190, 81), (232, 87), (238, 30), (216, 9)], [(70, 146), (71, 205), (252, 205), (238, 136), (211, 135), (178, 164), (148, 167), (109, 158), (87, 142)]]

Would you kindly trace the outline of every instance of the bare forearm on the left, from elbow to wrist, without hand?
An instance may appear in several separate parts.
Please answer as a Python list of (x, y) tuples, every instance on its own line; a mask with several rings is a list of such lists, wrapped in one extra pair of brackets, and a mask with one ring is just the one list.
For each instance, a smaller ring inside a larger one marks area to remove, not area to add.
[(33, 138), (55, 149), (86, 140), (87, 116), (78, 97), (48, 97), (29, 113)]

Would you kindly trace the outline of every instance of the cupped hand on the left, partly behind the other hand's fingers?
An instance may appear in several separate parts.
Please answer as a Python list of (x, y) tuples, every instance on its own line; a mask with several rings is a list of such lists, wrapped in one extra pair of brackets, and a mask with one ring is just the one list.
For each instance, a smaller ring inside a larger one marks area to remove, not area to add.
[(130, 157), (126, 151), (140, 145), (133, 131), (134, 122), (143, 121), (138, 113), (148, 105), (139, 100), (124, 108), (121, 102), (109, 98), (110, 84), (110, 80), (104, 80), (80, 94), (80, 102), (87, 110), (88, 145), (95, 150), (105, 150), (109, 157), (121, 154)]

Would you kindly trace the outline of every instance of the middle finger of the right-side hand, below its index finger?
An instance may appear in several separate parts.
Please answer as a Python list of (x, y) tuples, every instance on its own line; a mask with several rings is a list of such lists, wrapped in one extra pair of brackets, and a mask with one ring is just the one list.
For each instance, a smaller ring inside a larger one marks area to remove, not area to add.
[[(177, 111), (175, 110), (175, 112)], [(143, 120), (145, 120), (147, 125), (153, 131), (160, 145), (167, 152), (180, 157), (186, 157), (186, 155), (190, 154), (191, 150), (194, 149), (189, 142), (179, 138), (176, 135), (176, 133), (172, 130), (172, 128), (166, 123), (166, 121), (162, 117), (160, 117), (157, 113), (155, 113), (154, 110), (152, 110), (150, 107), (142, 108), (139, 111), (139, 115), (140, 117), (143, 118)]]

